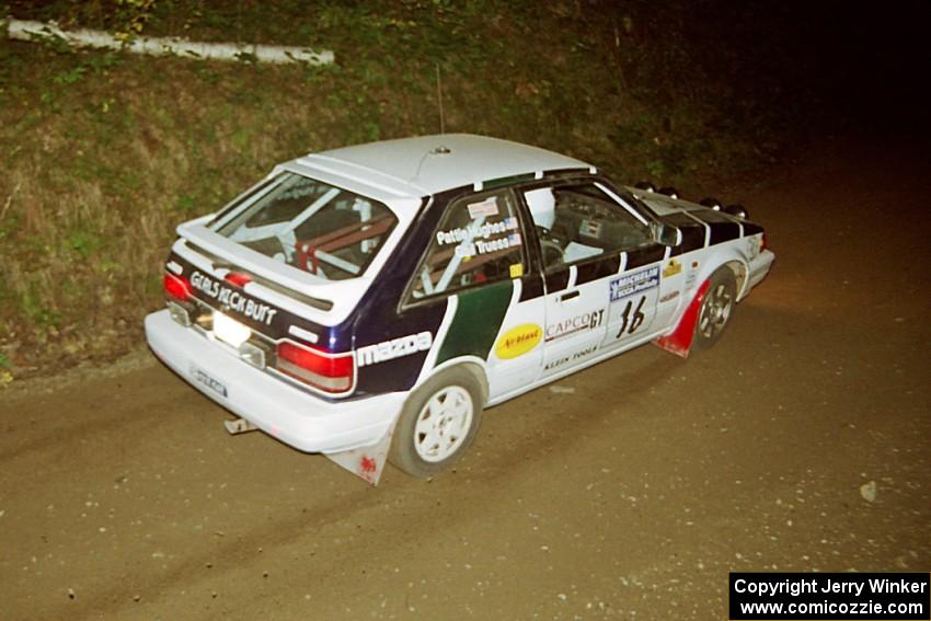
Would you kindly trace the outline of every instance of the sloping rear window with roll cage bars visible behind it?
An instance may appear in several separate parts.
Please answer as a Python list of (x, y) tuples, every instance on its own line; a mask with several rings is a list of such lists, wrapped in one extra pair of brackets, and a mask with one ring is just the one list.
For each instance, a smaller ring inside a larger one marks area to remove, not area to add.
[(209, 227), (330, 280), (361, 275), (398, 218), (383, 204), (295, 173), (258, 185)]

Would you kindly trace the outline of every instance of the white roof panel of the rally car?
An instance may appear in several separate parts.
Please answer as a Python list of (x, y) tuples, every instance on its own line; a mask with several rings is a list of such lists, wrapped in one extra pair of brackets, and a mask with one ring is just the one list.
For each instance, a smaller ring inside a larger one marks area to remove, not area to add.
[(301, 168), (402, 196), (427, 196), (522, 174), (594, 168), (553, 151), (471, 134), (440, 134), (383, 140), (311, 153)]

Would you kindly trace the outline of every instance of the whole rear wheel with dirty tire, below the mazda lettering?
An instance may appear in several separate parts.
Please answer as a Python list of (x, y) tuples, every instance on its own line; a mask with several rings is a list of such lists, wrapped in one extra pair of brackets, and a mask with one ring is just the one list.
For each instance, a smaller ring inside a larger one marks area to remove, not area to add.
[(479, 380), (462, 367), (430, 378), (404, 403), (388, 460), (417, 479), (449, 469), (479, 432), (482, 395)]

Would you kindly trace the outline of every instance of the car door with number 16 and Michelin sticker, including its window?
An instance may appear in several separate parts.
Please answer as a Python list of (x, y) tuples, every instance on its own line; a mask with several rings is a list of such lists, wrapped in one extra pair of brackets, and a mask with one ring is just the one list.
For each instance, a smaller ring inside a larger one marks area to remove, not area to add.
[(522, 196), (545, 274), (542, 377), (648, 334), (666, 252), (654, 242), (650, 220), (597, 179), (537, 186)]

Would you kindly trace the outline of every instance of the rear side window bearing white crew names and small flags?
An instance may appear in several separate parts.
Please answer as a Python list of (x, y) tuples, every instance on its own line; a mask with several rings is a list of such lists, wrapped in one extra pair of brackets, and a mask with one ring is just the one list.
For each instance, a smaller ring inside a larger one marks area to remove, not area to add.
[(409, 298), (439, 296), (479, 283), (524, 275), (524, 240), (508, 191), (460, 198), (449, 206)]

